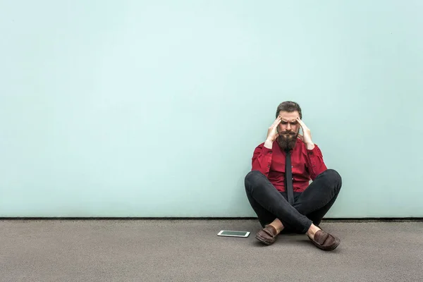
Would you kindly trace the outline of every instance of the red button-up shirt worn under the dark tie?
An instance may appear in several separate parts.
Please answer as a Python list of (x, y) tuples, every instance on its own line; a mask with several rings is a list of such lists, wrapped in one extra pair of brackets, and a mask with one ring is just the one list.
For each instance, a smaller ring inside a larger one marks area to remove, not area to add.
[[(286, 154), (274, 142), (272, 149), (264, 147), (264, 142), (255, 148), (252, 156), (252, 171), (260, 171), (275, 186), (278, 191), (285, 191), (285, 158)], [(307, 149), (304, 142), (297, 138), (291, 154), (293, 166), (293, 190), (303, 192), (320, 173), (326, 171), (323, 155), (317, 145)]]

